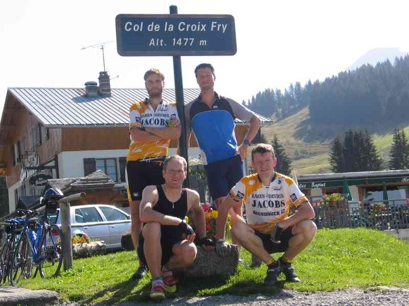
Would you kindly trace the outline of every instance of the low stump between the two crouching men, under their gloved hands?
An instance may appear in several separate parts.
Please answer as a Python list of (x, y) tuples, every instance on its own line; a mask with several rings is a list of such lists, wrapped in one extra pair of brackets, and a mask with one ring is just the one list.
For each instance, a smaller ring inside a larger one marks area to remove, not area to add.
[(228, 257), (220, 257), (216, 251), (207, 251), (197, 246), (196, 259), (192, 266), (184, 269), (185, 276), (206, 277), (234, 274), (239, 263), (239, 248), (235, 244), (232, 244), (231, 247)]

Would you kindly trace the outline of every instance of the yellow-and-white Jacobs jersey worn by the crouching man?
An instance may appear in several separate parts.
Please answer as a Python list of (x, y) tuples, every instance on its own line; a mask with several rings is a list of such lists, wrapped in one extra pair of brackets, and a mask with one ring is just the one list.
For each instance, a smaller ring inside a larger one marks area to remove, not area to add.
[(247, 224), (264, 234), (287, 218), (291, 205), (297, 207), (308, 201), (291, 177), (277, 172), (269, 186), (263, 185), (257, 173), (244, 176), (229, 195), (236, 201), (244, 200)]

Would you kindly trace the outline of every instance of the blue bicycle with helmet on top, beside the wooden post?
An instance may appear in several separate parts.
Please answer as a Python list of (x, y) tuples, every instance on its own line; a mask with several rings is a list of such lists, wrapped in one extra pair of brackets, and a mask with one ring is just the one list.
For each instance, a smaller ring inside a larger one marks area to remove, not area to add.
[[(31, 276), (33, 265), (34, 272), (41, 277), (57, 276), (61, 269), (63, 259), (64, 239), (61, 229), (56, 224), (49, 224), (48, 213), (55, 213), (58, 200), (63, 198), (60, 190), (51, 188), (40, 199), (45, 205), (42, 218), (36, 211), (17, 210), (26, 213), (24, 228), (15, 248), (12, 266), (9, 271), (10, 283), (16, 286), (21, 276)], [(41, 220), (41, 221), (40, 221)]]

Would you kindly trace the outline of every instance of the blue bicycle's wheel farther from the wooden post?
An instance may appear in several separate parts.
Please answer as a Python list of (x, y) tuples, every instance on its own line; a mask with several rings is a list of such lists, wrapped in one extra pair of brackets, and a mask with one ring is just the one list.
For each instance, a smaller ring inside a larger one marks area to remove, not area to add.
[[(9, 270), (10, 283), (17, 286), (21, 276), (26, 278), (28, 263), (28, 250), (30, 249), (30, 242), (26, 233), (22, 233), (13, 251), (11, 259), (11, 266)], [(31, 274), (31, 273), (30, 273)]]

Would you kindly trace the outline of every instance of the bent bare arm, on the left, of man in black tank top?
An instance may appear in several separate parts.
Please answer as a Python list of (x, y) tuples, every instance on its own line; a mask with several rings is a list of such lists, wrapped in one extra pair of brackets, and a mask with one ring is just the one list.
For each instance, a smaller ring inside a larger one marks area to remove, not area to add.
[(142, 222), (159, 222), (162, 225), (179, 225), (182, 221), (177, 217), (164, 215), (154, 211), (152, 208), (156, 205), (158, 194), (156, 186), (147, 186), (142, 192), (142, 200), (140, 204), (140, 216)]

